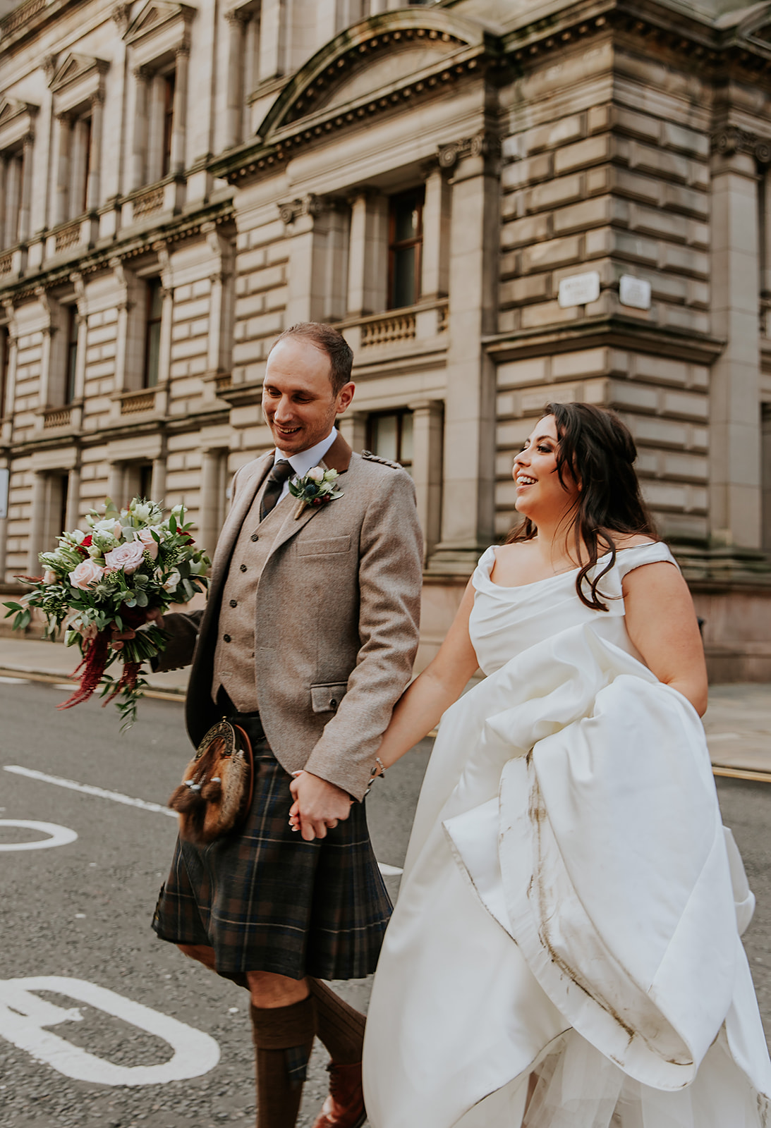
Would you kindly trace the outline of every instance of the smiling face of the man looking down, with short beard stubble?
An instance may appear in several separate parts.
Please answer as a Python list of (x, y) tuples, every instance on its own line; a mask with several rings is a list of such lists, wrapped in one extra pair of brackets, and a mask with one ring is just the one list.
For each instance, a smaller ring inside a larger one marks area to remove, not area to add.
[(262, 413), (283, 455), (299, 455), (326, 439), (353, 398), (347, 384), (335, 396), (330, 358), (305, 337), (284, 337), (265, 367)]

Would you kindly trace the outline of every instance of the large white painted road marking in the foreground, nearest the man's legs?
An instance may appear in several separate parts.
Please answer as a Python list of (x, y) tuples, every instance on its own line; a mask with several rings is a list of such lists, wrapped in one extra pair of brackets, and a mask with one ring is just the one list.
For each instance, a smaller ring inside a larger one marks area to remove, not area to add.
[[(161, 1065), (115, 1065), (88, 1054), (45, 1030), (63, 1022), (81, 1022), (78, 1007), (69, 1010), (42, 999), (35, 992), (49, 990), (88, 1003), (106, 1014), (163, 1038), (174, 1050)], [(219, 1061), (219, 1046), (213, 1038), (193, 1030), (177, 1019), (134, 1003), (106, 987), (68, 976), (32, 976), (0, 979), (0, 1037), (26, 1050), (37, 1061), (52, 1066), (65, 1077), (99, 1085), (160, 1085), (184, 1077), (199, 1077)]]

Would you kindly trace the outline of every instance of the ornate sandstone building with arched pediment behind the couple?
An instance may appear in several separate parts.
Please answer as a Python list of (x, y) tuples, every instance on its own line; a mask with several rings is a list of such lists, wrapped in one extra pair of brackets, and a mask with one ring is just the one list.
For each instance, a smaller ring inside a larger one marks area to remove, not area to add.
[(712, 675), (771, 676), (771, 3), (3, 7), (7, 582), (106, 494), (213, 546), (271, 343), (323, 319), (343, 432), (415, 481), (426, 654), (541, 407), (585, 399), (632, 429)]

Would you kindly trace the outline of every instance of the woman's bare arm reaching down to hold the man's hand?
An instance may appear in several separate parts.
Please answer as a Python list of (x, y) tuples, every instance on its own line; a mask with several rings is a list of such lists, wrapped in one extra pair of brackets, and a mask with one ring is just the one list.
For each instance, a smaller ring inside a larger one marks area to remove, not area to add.
[(402, 694), (377, 751), (384, 768), (409, 752), (457, 700), (479, 662), (468, 637), (474, 589), (468, 585), (437, 656)]

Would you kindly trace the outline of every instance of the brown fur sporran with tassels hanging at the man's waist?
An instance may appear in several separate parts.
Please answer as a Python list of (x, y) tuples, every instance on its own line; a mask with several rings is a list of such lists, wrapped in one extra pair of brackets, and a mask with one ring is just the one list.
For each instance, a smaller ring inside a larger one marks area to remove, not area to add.
[(249, 738), (239, 725), (219, 721), (168, 801), (179, 816), (179, 837), (204, 846), (233, 830), (249, 809), (253, 786)]

